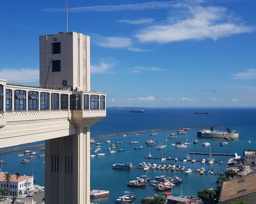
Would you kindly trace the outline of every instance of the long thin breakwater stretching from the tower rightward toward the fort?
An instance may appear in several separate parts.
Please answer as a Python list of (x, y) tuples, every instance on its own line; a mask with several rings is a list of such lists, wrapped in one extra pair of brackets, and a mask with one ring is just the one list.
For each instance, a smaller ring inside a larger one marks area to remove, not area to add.
[(172, 131), (172, 130), (181, 130), (183, 128), (190, 128), (190, 129), (205, 129), (210, 127), (218, 127), (218, 125), (211, 125), (211, 126), (191, 126), (191, 127), (168, 127), (162, 129), (153, 129), (153, 130), (142, 130), (142, 131), (130, 131), (130, 132), (123, 132), (123, 133), (115, 133), (109, 135), (100, 135), (91, 137), (91, 139), (99, 139), (99, 138), (106, 138), (106, 137), (115, 137), (115, 136), (122, 136), (122, 135), (131, 135), (131, 134), (138, 134), (138, 133), (148, 133), (153, 131)]

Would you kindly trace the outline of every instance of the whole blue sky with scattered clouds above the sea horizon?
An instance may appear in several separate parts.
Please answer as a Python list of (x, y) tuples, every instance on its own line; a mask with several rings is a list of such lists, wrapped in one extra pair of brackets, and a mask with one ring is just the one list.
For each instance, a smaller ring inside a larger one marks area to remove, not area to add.
[[(66, 31), (66, 1), (2, 1), (0, 78), (38, 82), (39, 35)], [(91, 87), (108, 106), (255, 106), (256, 1), (69, 1), (91, 36)]]

